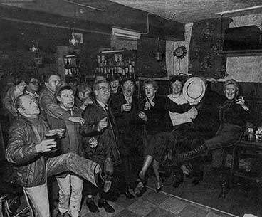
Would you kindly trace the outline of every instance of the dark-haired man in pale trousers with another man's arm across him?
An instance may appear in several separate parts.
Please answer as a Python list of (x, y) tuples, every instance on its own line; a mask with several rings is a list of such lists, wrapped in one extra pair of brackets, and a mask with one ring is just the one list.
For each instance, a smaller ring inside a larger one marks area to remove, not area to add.
[[(73, 117), (82, 117), (83, 110), (74, 106), (75, 96), (70, 85), (61, 82), (56, 87), (55, 95), (61, 109), (70, 113)], [(83, 157), (82, 137), (79, 134), (80, 124), (55, 117), (50, 117), (50, 121), (52, 129), (66, 129), (66, 134), (61, 139), (60, 153), (66, 154), (68, 152), (73, 152)], [(82, 199), (83, 179), (75, 176), (75, 174), (69, 173), (57, 176), (56, 179), (59, 186), (59, 212), (57, 217), (63, 217), (67, 211), (69, 216), (78, 217)]]

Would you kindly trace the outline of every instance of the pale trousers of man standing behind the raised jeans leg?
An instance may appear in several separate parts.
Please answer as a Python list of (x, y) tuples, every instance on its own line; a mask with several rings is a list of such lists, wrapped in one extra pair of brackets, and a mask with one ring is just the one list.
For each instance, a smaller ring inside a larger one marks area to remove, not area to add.
[[(83, 179), (67, 174), (64, 178), (56, 178), (59, 186), (58, 210), (72, 217), (78, 217), (81, 206)], [(69, 207), (68, 207), (69, 206)]]

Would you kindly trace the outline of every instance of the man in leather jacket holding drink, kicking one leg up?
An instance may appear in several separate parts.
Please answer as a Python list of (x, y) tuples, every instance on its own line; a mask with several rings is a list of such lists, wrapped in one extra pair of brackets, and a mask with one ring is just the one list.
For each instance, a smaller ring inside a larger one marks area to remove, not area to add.
[(49, 217), (47, 177), (71, 171), (96, 185), (100, 166), (73, 153), (46, 159), (44, 153), (56, 147), (56, 141), (45, 137), (48, 125), (39, 117), (36, 100), (21, 95), (16, 99), (16, 110), (19, 116), (9, 130), (6, 159), (12, 164), (16, 182), (28, 194), (36, 215)]

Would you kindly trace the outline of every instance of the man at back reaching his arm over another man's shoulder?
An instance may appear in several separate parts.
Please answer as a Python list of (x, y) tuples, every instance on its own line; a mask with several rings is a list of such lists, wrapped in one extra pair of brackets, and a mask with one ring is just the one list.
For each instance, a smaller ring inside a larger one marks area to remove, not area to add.
[(57, 73), (48, 73), (44, 80), (46, 88), (39, 96), (39, 106), (41, 108), (41, 116), (43, 119), (45, 119), (47, 122), (50, 122), (50, 117), (56, 117), (83, 124), (84, 120), (82, 117), (71, 116), (68, 112), (62, 110), (57, 103), (55, 91), (56, 86), (61, 82), (60, 75)]

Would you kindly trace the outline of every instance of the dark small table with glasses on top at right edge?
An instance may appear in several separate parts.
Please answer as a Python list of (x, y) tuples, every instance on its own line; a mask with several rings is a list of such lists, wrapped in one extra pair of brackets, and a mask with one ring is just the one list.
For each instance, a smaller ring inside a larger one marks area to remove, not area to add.
[(246, 157), (256, 157), (262, 159), (262, 142), (241, 140), (233, 149), (233, 162), (231, 165), (230, 179), (231, 183), (235, 176), (249, 179), (251, 181), (262, 181), (262, 175), (247, 172), (245, 169), (239, 168), (239, 159)]

